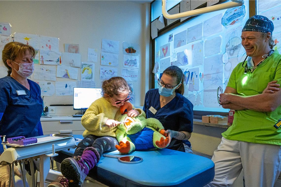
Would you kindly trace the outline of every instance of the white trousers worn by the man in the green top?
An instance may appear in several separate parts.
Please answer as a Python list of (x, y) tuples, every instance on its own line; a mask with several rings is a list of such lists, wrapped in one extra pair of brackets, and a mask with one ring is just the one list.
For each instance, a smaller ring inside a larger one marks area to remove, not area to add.
[(215, 177), (206, 186), (231, 186), (244, 170), (245, 186), (273, 186), (281, 165), (281, 146), (221, 138), (214, 151)]

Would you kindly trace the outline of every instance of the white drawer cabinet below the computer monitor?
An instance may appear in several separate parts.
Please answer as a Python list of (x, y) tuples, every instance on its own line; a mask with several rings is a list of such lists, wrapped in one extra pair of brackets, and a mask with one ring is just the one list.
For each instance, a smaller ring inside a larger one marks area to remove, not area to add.
[(85, 128), (81, 124), (81, 117), (71, 115), (41, 117), (44, 134), (78, 134), (82, 135)]

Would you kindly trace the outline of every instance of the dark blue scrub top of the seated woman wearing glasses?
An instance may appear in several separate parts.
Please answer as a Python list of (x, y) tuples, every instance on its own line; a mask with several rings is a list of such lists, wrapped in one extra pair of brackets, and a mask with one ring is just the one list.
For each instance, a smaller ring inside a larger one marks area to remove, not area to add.
[[(157, 110), (156, 114), (153, 114), (149, 110), (151, 106)], [(193, 105), (187, 98), (182, 96), (182, 94), (176, 93), (175, 98), (161, 108), (158, 88), (151, 89), (145, 95), (143, 110), (146, 113), (147, 118), (153, 117), (158, 119), (164, 126), (165, 130), (192, 132)], [(188, 140), (177, 140), (172, 138), (172, 141), (167, 148), (185, 152), (182, 143), (185, 143), (189, 147), (191, 146)]]

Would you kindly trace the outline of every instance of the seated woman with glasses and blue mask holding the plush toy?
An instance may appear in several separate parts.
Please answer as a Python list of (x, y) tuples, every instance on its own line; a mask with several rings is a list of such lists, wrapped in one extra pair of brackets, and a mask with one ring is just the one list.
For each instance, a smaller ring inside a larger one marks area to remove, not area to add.
[[(143, 110), (146, 117), (158, 119), (170, 138), (168, 149), (192, 153), (193, 105), (183, 96), (185, 77), (177, 66), (170, 66), (158, 79), (158, 89), (146, 93)], [(184, 145), (185, 144), (185, 145)]]

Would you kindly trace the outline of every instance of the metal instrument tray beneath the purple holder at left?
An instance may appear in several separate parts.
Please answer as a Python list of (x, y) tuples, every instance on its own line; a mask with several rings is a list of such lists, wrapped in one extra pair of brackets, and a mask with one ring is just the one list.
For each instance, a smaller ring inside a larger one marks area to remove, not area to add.
[(7, 141), (2, 142), (2, 144), (10, 146), (10, 147), (28, 147), (28, 146), (38, 145), (38, 144), (44, 144), (47, 142), (53, 142), (56, 140), (63, 140), (63, 139), (71, 138), (71, 137), (73, 137), (73, 136), (72, 135), (63, 135), (63, 134), (47, 134), (47, 135), (42, 135), (42, 136), (36, 136), (35, 138), (37, 138), (37, 140), (39, 142), (34, 143), (34, 144), (17, 145), (17, 144), (10, 144)]

